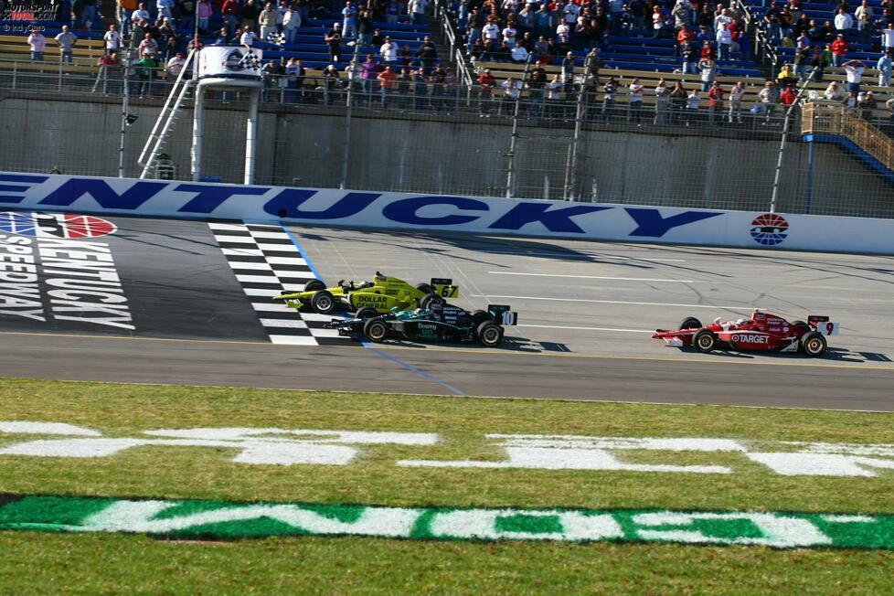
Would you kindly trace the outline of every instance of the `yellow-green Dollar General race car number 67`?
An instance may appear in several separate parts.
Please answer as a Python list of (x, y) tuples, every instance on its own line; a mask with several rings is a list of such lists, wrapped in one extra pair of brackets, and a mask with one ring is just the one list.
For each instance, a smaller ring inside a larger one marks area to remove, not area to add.
[(341, 309), (358, 314), (389, 313), (391, 309), (426, 308), (433, 302), (444, 302), (460, 295), (459, 286), (452, 280), (432, 278), (430, 283), (410, 285), (396, 277), (378, 271), (372, 282), (338, 282), (327, 288), (320, 280), (311, 280), (303, 292), (281, 293), (273, 300), (282, 300), (295, 309), (310, 307), (320, 314), (331, 314)]

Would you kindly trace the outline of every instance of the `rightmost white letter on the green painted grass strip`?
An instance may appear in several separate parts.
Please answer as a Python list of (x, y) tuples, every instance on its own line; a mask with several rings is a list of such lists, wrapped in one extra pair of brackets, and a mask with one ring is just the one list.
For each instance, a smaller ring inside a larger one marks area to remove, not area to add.
[(677, 526), (691, 527), (696, 521), (711, 522), (716, 525), (727, 521), (747, 520), (760, 530), (762, 537), (718, 537), (704, 534), (697, 529), (637, 529), (636, 533), (644, 540), (668, 542), (714, 543), (760, 545), (765, 547), (792, 548), (813, 547), (832, 544), (832, 538), (806, 519), (798, 517), (776, 516), (763, 513), (644, 513), (633, 516), (633, 523), (638, 526)]

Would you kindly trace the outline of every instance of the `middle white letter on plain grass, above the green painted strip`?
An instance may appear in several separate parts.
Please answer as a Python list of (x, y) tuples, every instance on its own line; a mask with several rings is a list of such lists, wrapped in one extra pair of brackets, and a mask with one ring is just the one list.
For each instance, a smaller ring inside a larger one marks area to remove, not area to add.
[(439, 468), (532, 468), (540, 470), (612, 470), (625, 472), (671, 472), (729, 474), (720, 465), (669, 465), (624, 463), (610, 450), (664, 450), (695, 452), (741, 452), (736, 442), (721, 439), (613, 439), (602, 437), (562, 437), (544, 435), (487, 435), (500, 439), (506, 450), (505, 462), (402, 460), (407, 467)]

